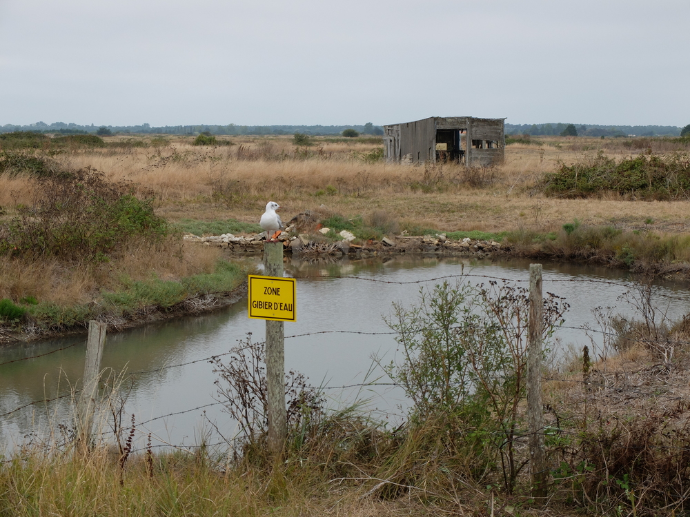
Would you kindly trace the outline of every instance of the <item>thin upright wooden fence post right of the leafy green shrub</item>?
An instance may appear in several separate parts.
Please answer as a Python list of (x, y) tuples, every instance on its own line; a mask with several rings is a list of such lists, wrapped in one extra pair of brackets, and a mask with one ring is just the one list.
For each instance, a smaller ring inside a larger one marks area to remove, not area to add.
[(542, 413), (542, 265), (529, 265), (529, 343), (527, 345), (527, 419), (532, 496), (546, 497), (546, 454)]

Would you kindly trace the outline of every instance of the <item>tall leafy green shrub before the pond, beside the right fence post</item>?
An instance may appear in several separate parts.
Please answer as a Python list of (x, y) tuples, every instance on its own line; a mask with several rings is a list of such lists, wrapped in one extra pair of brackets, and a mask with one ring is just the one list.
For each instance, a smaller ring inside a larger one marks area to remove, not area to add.
[[(402, 358), (382, 367), (413, 401), (413, 424), (455, 420), (455, 433), (475, 443), (468, 461), (477, 465), (477, 481), (500, 464), (505, 489), (512, 491), (524, 466), (515, 438), (524, 425), (518, 407), (525, 396), (527, 290), (505, 282), (444, 282), (431, 292), (422, 288), (420, 302), (409, 309), (393, 307), (386, 323), (397, 333)], [(544, 342), (568, 307), (553, 294), (545, 298)]]

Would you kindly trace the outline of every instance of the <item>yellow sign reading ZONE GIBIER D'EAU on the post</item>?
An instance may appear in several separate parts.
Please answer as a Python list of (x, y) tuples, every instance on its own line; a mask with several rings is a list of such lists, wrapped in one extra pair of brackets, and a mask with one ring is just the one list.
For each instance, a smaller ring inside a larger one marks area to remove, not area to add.
[(297, 321), (295, 278), (249, 275), (250, 318)]

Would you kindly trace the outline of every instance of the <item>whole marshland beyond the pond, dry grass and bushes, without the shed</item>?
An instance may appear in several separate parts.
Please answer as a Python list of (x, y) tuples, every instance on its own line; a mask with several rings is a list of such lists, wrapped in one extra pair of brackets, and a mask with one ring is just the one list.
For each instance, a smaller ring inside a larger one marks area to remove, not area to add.
[(502, 165), (467, 169), (386, 164), (368, 135), (0, 136), (0, 299), (37, 335), (86, 315), (121, 323), (136, 302), (117, 293), (135, 286), (167, 293), (140, 297), (164, 310), (203, 296), (199, 275), (228, 267), (181, 232), (255, 232), (267, 199), (361, 239), (477, 232), (522, 256), (656, 273), (690, 260), (687, 138), (521, 135)]

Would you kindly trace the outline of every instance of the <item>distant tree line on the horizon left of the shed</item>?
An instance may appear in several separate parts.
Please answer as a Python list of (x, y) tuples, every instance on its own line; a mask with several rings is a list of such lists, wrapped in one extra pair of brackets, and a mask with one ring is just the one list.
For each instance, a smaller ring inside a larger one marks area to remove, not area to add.
[(37, 122), (29, 125), (6, 124), (0, 126), (0, 133), (14, 131), (34, 131), (41, 133), (61, 133), (61, 134), (115, 134), (115, 133), (157, 133), (157, 134), (307, 134), (318, 135), (339, 135), (345, 130), (353, 130), (359, 134), (382, 135), (384, 130), (378, 126), (367, 122), (363, 125), (165, 125), (152, 126), (148, 123), (141, 125), (79, 125), (75, 123), (55, 122), (46, 124)]

